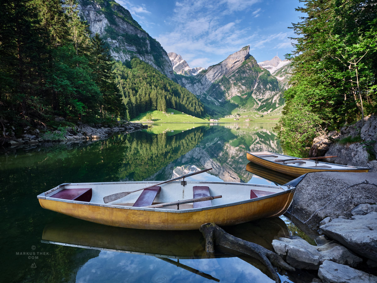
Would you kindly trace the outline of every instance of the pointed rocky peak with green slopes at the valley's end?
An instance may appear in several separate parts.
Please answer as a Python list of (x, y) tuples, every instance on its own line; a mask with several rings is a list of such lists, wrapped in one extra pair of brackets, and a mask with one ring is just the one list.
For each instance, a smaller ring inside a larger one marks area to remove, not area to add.
[(210, 66), (195, 78), (176, 76), (179, 84), (200, 97), (211, 114), (227, 114), (225, 106), (269, 112), (282, 105), (277, 79), (249, 54), (250, 46)]

